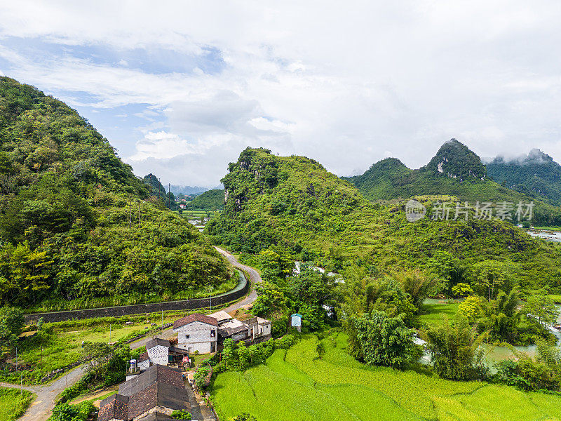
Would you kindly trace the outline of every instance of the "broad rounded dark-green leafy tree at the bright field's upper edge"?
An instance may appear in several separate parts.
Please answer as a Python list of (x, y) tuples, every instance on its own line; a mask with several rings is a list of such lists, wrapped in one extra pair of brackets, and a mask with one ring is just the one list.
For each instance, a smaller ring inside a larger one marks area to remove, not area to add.
[(404, 368), (417, 358), (413, 332), (400, 317), (374, 311), (346, 321), (349, 354), (372, 366)]

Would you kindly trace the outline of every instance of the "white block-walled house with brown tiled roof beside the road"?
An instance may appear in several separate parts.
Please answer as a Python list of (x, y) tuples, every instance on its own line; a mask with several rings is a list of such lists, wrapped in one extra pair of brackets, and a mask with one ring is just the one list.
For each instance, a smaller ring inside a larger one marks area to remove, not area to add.
[(218, 321), (204, 314), (189, 314), (173, 323), (177, 333), (177, 347), (193, 353), (208, 354), (216, 352)]

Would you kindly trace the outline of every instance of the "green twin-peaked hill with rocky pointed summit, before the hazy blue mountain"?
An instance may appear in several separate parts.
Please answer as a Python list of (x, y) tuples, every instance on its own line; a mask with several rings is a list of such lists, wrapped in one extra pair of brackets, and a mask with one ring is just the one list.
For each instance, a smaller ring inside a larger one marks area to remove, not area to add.
[(374, 163), (362, 175), (344, 179), (371, 201), (400, 201), (417, 195), (453, 195), (472, 205), (477, 201), (534, 201), (533, 223), (561, 225), (561, 208), (544, 203), (543, 195), (531, 189), (515, 191), (489, 179), (480, 157), (455, 139), (445, 142), (431, 161), (417, 170), (390, 158)]

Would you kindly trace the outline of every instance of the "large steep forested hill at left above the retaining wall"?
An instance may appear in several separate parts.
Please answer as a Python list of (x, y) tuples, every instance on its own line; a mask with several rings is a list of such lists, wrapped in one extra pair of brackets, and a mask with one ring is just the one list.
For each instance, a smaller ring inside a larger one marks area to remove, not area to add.
[(1, 304), (158, 300), (231, 275), (88, 121), (8, 77), (0, 77), (0, 192)]

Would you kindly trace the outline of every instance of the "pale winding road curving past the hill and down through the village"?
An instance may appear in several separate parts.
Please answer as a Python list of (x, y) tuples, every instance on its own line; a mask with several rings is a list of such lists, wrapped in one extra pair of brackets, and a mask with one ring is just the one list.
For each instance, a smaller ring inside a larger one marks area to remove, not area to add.
[[(242, 265), (241, 263), (238, 263), (236, 258), (234, 258), (234, 256), (228, 253), (226, 250), (223, 250), (222, 248), (216, 246), (215, 248), (218, 251), (218, 253), (223, 255), (224, 258), (227, 258), (227, 260), (234, 267), (237, 267), (238, 269), (243, 269), (245, 272), (247, 272), (250, 276), (250, 281), (253, 285), (255, 285), (255, 283), (259, 283), (262, 281), (261, 276), (259, 275), (259, 272), (257, 272), (257, 270), (255, 270), (252, 267), (245, 266)], [(257, 299), (257, 293), (255, 292), (255, 289), (252, 288), (251, 292), (245, 298), (243, 298), (238, 302), (235, 302), (234, 304), (230, 305), (224, 310), (226, 312), (234, 312), (235, 310), (240, 309), (241, 307), (250, 305), (256, 299)], [(173, 338), (173, 336), (175, 336), (175, 334), (173, 333), (173, 329), (168, 328), (165, 329), (163, 333), (158, 335), (158, 338), (169, 339), (169, 338)], [(147, 342), (151, 339), (152, 337), (146, 337), (137, 340), (136, 342), (130, 344), (130, 348), (131, 349), (140, 348), (146, 345)], [(23, 415), (23, 417), (21, 417), (20, 420), (21, 421), (46, 421), (47, 418), (50, 416), (50, 411), (53, 410), (53, 407), (55, 406), (56, 397), (60, 394), (60, 392), (66, 389), (67, 386), (72, 386), (74, 385), (74, 383), (78, 382), (78, 380), (80, 380), (80, 378), (83, 375), (83, 371), (84, 371), (83, 366), (74, 368), (74, 370), (69, 371), (68, 373), (66, 373), (66, 375), (59, 377), (54, 382), (44, 386), (21, 387), (20, 385), (13, 385), (11, 383), (1, 383), (1, 382), (0, 382), (0, 386), (13, 387), (15, 389), (24, 389), (36, 394), (36, 399), (33, 401), (31, 406), (29, 406), (29, 409), (27, 409), (25, 415)]]

